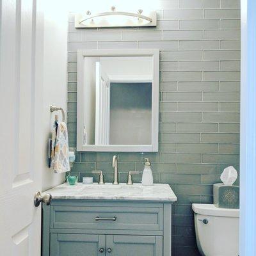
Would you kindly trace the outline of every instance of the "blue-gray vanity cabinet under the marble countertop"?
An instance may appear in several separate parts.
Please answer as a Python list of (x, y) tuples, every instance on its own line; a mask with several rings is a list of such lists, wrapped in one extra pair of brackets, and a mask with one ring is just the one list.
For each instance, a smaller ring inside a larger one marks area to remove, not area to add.
[(53, 199), (43, 205), (42, 256), (171, 256), (171, 206)]

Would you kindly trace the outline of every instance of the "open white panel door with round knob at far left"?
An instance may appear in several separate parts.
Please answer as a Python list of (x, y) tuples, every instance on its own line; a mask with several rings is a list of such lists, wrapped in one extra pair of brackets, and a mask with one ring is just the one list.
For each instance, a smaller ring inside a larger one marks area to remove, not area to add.
[(0, 0), (1, 255), (39, 256), (42, 15), (36, 0)]

